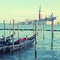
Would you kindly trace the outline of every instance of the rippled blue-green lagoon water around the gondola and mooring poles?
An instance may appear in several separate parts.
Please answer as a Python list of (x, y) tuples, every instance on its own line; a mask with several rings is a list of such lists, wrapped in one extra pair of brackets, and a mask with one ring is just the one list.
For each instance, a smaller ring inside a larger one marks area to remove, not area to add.
[[(47, 27), (47, 26), (45, 26)], [(59, 30), (59, 26), (55, 26), (55, 29)], [(47, 27), (45, 29), (51, 29)], [(0, 30), (0, 37), (2, 37), (3, 30)], [(6, 36), (10, 35), (9, 30), (6, 30)], [(28, 37), (33, 35), (33, 31), (23, 30), (20, 31), (20, 37)], [(18, 39), (18, 31), (15, 31), (15, 40)], [(60, 32), (54, 31), (53, 51), (51, 51), (51, 31), (38, 31), (37, 39), (37, 60), (60, 60)], [(24, 50), (18, 50), (14, 53), (0, 54), (0, 60), (34, 60), (35, 59), (35, 45)]]

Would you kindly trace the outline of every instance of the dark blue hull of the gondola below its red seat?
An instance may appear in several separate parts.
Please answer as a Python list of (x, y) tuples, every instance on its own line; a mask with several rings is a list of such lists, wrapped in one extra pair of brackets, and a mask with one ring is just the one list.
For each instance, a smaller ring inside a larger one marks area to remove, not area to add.
[(28, 40), (26, 41), (19, 41), (18, 43), (16, 43), (17, 42), (16, 41), (14, 45), (11, 44), (11, 45), (0, 46), (0, 52), (5, 53), (5, 52), (16, 51), (23, 48), (28, 48), (33, 45), (34, 41), (35, 41), (35, 35), (28, 38)]

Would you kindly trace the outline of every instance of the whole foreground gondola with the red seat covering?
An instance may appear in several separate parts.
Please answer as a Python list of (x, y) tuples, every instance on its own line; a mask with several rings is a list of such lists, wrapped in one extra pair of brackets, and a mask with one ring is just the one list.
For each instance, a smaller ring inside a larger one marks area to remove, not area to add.
[(23, 48), (28, 48), (33, 45), (35, 41), (35, 36), (36, 34), (34, 34), (31, 37), (27, 37), (27, 38), (19, 38), (18, 40), (14, 42), (14, 45), (13, 45), (13, 42), (11, 43), (8, 42), (8, 44), (0, 44), (0, 51), (12, 52), (12, 51), (23, 49)]

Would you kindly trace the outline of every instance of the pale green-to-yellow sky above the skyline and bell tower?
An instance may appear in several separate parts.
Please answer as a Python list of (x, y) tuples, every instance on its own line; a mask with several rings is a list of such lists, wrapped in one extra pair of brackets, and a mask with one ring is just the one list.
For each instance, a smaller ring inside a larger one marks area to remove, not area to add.
[(60, 0), (0, 0), (0, 23), (38, 20), (40, 5), (42, 18), (53, 12), (60, 20)]

